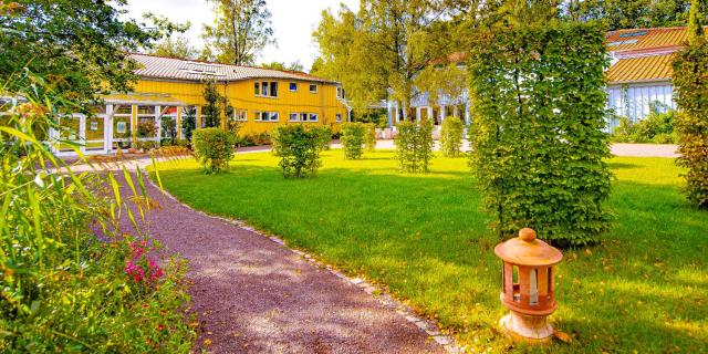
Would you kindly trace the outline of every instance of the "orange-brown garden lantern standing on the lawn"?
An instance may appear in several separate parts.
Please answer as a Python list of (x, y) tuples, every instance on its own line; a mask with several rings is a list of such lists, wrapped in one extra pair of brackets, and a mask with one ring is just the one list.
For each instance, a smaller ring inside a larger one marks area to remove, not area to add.
[(546, 317), (558, 308), (554, 266), (563, 254), (528, 228), (519, 231), (518, 238), (497, 244), (494, 253), (503, 261), (501, 303), (511, 310), (499, 324), (512, 340), (550, 342), (553, 327)]

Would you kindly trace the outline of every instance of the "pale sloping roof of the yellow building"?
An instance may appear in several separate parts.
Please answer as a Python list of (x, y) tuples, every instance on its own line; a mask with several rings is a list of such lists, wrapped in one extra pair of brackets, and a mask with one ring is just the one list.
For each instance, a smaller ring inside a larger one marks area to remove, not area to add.
[(185, 81), (201, 81), (205, 79), (214, 79), (217, 81), (283, 79), (336, 84), (334, 81), (295, 71), (219, 64), (138, 53), (133, 53), (129, 56), (140, 64), (140, 69), (135, 73), (142, 77)]

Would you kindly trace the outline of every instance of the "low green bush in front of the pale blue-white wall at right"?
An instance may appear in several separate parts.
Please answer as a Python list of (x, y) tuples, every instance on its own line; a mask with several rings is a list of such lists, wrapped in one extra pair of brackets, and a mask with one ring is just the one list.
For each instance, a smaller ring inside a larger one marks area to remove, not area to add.
[(627, 117), (620, 117), (620, 124), (612, 133), (612, 139), (617, 143), (654, 143), (676, 144), (677, 135), (674, 124), (678, 113), (669, 110), (660, 112), (652, 110), (646, 117), (633, 123)]

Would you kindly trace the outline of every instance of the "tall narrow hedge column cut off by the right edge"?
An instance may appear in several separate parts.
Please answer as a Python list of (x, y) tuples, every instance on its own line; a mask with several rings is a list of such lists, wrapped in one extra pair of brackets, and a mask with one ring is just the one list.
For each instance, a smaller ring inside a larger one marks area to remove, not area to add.
[[(697, 12), (697, 11), (691, 11)], [(698, 14), (695, 14), (698, 17)], [(693, 21), (700, 27), (700, 21)], [(690, 30), (696, 33), (698, 30)], [(680, 113), (676, 117), (678, 164), (687, 168), (686, 196), (708, 208), (708, 42), (701, 35), (674, 61), (674, 87)]]

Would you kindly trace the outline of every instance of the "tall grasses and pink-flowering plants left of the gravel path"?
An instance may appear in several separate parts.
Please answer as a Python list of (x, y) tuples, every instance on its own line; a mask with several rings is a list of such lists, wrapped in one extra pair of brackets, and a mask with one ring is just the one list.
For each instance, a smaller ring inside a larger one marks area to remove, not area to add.
[(15, 80), (28, 102), (0, 121), (0, 351), (188, 352), (186, 264), (157, 266), (157, 244), (118, 229), (125, 219), (140, 233), (135, 221), (153, 212), (154, 201), (138, 202), (148, 200), (142, 171), (72, 171), (35, 132), (60, 128), (59, 112), (75, 104), (35, 90), (40, 77)]

